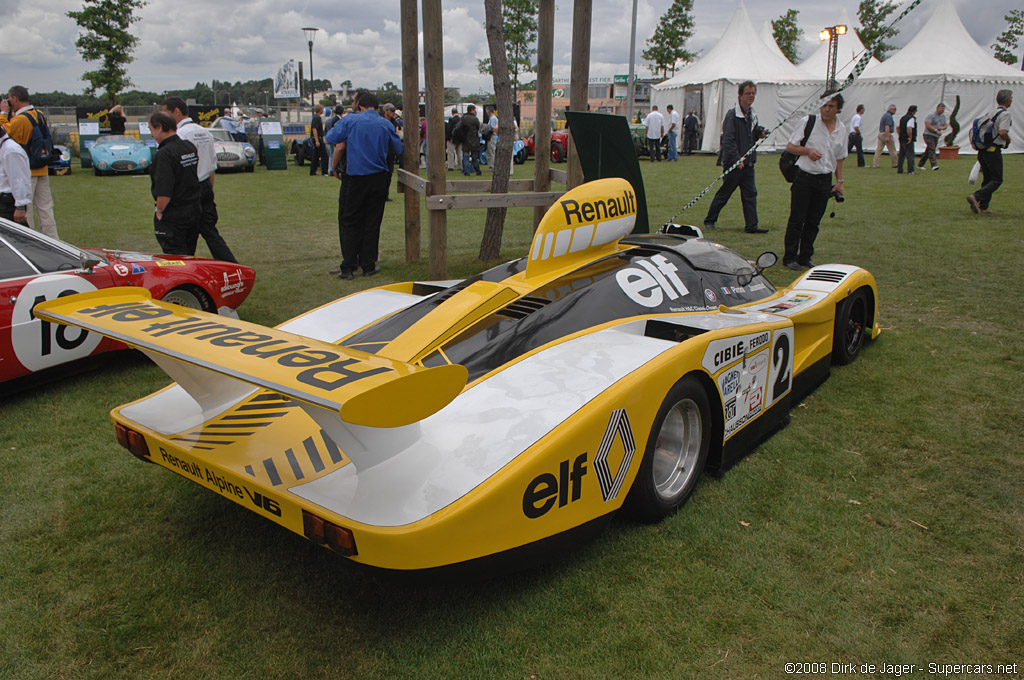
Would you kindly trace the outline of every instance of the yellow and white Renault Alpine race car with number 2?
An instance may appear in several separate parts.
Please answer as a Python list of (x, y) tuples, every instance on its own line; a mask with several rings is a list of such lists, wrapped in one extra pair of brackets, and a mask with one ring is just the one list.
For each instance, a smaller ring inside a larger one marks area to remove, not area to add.
[(352, 560), (534, 559), (620, 509), (654, 521), (879, 334), (873, 277), (776, 290), (698, 233), (634, 235), (623, 179), (564, 195), (529, 254), (383, 286), (275, 329), (110, 290), (39, 304), (176, 384), (115, 409), (135, 456)]

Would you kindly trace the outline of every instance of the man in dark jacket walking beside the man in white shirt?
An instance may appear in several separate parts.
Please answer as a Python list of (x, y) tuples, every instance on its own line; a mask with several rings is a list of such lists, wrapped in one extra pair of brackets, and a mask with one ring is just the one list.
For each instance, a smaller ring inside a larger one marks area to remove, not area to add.
[(741, 83), (739, 101), (735, 108), (729, 110), (725, 115), (725, 121), (722, 122), (722, 167), (728, 170), (736, 161), (741, 158), (743, 160), (739, 161), (739, 165), (722, 180), (722, 186), (712, 200), (708, 215), (705, 217), (707, 229), (715, 228), (719, 213), (738, 186), (739, 198), (743, 203), (745, 224), (743, 230), (748, 233), (768, 232), (768, 229), (758, 226), (758, 187), (754, 183), (757, 152), (744, 158), (751, 146), (765, 135), (765, 129), (758, 125), (758, 117), (754, 113), (754, 98), (757, 93), (758, 86), (753, 81)]

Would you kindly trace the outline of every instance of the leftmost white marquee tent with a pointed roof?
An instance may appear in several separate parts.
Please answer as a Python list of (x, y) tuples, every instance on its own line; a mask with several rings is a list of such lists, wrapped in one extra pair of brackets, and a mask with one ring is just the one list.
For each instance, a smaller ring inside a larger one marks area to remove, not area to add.
[[(821, 89), (822, 80), (815, 80), (790, 62), (778, 46), (765, 43), (751, 23), (742, 0), (736, 6), (732, 20), (718, 43), (697, 61), (687, 66), (673, 78), (654, 85), (651, 103), (665, 110), (673, 104), (680, 112), (698, 109), (705, 122), (700, 150), (717, 152), (722, 120), (726, 112), (736, 105), (736, 88), (739, 83), (752, 80), (758, 85), (754, 110), (761, 125), (775, 125), (813, 100)], [(693, 105), (694, 98), (699, 103)], [(761, 148), (770, 151), (785, 146), (796, 121), (783, 125), (765, 140)]]

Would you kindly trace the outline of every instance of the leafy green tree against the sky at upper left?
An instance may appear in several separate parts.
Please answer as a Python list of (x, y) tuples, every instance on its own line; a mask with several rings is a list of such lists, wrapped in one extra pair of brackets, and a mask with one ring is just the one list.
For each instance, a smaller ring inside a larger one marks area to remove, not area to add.
[(86, 61), (100, 62), (98, 69), (82, 76), (89, 83), (86, 94), (102, 89), (106, 102), (113, 104), (118, 93), (132, 84), (128, 65), (138, 38), (128, 28), (138, 18), (136, 10), (145, 4), (145, 0), (84, 0), (80, 11), (68, 12), (81, 29), (75, 41), (79, 54)]

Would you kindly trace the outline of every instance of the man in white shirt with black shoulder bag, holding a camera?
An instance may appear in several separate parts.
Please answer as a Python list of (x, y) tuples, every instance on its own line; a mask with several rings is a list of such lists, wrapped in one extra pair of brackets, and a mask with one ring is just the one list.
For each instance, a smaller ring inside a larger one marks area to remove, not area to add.
[(785, 225), (785, 254), (782, 256), (782, 264), (795, 271), (814, 266), (811, 261), (814, 240), (828, 199), (844, 200), (843, 159), (848, 153), (849, 133), (838, 118), (841, 111), (843, 95), (834, 94), (821, 105), (805, 144), (801, 146), (800, 142), (809, 116), (800, 121), (785, 145), (785, 151), (800, 157), (790, 189), (790, 220)]

